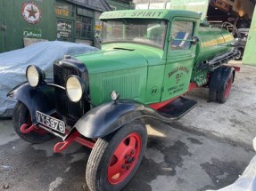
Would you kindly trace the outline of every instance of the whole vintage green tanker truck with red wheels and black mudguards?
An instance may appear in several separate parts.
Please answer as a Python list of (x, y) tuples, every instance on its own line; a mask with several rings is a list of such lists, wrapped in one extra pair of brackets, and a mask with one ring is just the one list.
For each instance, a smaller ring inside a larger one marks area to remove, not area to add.
[(52, 79), (30, 65), (28, 82), (8, 97), (18, 99), (12, 119), (22, 139), (60, 137), (55, 152), (72, 141), (92, 148), (88, 187), (120, 190), (143, 159), (145, 120), (169, 123), (185, 115), (196, 101), (181, 96), (196, 87), (209, 88), (211, 101), (225, 102), (235, 68), (223, 64), (237, 52), (231, 34), (201, 26), (196, 12), (103, 12), (100, 19), (101, 51), (65, 55), (54, 63)]

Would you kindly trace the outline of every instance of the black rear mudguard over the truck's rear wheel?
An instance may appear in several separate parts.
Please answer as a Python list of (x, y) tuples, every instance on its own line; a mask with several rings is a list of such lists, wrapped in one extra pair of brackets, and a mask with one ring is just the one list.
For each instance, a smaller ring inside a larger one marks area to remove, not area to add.
[(235, 79), (235, 69), (231, 67), (219, 67), (215, 69), (210, 77), (209, 88), (211, 91), (223, 91), (227, 86), (228, 78), (233, 74)]

